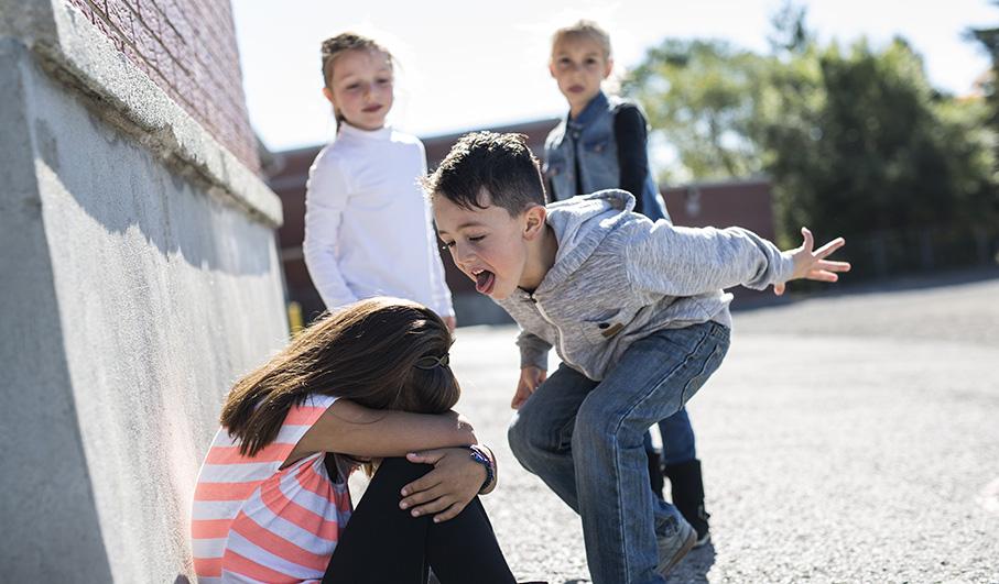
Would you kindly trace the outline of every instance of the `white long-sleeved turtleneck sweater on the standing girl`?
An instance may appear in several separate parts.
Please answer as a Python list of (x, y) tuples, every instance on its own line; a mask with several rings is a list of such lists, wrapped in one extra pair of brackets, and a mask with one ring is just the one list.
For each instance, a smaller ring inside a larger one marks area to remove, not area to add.
[(308, 170), (303, 252), (326, 308), (371, 296), (454, 316), (433, 216), (417, 184), (426, 154), (415, 136), (340, 122)]

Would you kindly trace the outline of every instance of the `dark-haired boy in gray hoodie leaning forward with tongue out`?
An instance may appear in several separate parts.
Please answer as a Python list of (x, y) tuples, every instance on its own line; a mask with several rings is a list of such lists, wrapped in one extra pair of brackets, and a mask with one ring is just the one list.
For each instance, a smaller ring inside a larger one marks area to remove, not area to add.
[[(813, 251), (803, 229), (803, 245), (781, 252), (739, 228), (653, 223), (622, 190), (545, 207), (518, 134), (467, 134), (424, 187), (457, 267), (521, 327), (529, 397), (510, 425), (513, 454), (580, 515), (595, 584), (664, 582), (696, 533), (653, 497), (642, 436), (721, 364), (723, 288), (835, 282), (849, 264), (826, 256), (843, 240)], [(545, 378), (552, 346), (562, 365)]]

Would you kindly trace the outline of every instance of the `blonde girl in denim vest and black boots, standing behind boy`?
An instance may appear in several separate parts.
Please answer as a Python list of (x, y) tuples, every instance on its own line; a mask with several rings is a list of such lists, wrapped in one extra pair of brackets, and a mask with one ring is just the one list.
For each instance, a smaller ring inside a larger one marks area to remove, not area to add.
[[(634, 195), (634, 212), (670, 220), (659, 186), (649, 169), (648, 122), (638, 103), (607, 97), (600, 90), (613, 68), (610, 36), (582, 20), (555, 31), (549, 70), (569, 111), (545, 140), (544, 174), (554, 200), (609, 188)], [(670, 478), (673, 505), (697, 531), (695, 547), (710, 539), (704, 505), (704, 478), (686, 408), (659, 420), (662, 456), (645, 434), (649, 478), (662, 497)]]

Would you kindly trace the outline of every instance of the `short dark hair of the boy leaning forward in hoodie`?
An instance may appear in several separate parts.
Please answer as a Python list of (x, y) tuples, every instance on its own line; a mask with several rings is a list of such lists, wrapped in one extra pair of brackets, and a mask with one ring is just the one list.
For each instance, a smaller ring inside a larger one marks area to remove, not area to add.
[(431, 200), (444, 197), (463, 209), (485, 209), (482, 189), (495, 207), (517, 217), (534, 205), (544, 205), (541, 165), (523, 134), (473, 132), (458, 140), (444, 161), (423, 179)]

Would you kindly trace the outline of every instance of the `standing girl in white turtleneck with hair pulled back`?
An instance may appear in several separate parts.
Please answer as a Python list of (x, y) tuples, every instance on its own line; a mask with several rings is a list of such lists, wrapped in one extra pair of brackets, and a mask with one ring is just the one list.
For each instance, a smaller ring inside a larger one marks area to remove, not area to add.
[(415, 136), (386, 125), (393, 60), (374, 41), (344, 33), (323, 43), (323, 95), (334, 142), (310, 169), (303, 252), (330, 311), (360, 298), (421, 302), (455, 327), (432, 216), (417, 185), (426, 154)]

